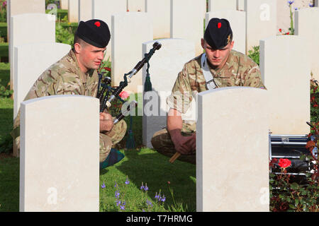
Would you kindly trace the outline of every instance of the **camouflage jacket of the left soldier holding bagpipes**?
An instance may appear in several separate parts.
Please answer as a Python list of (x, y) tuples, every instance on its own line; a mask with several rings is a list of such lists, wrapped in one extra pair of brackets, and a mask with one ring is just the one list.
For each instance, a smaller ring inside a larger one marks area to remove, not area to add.
[[(45, 70), (33, 84), (24, 100), (50, 95), (86, 95), (96, 97), (99, 76), (96, 70), (91, 69), (83, 73), (79, 68), (77, 58), (71, 49), (65, 57)], [(20, 126), (19, 109), (13, 122), (11, 135), (16, 138)]]

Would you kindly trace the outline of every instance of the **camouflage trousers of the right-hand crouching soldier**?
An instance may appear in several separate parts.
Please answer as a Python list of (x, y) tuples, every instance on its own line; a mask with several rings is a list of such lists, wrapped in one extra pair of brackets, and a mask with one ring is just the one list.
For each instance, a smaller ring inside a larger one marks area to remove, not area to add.
[[(190, 136), (192, 133), (196, 132), (196, 123), (183, 121), (183, 127), (181, 129), (181, 135)], [(176, 153), (174, 143), (172, 141), (167, 128), (154, 133), (152, 140), (152, 146), (158, 153), (165, 155), (167, 157), (172, 157)], [(191, 164), (196, 164), (196, 153), (190, 155), (181, 155), (177, 160), (182, 162), (189, 162)]]

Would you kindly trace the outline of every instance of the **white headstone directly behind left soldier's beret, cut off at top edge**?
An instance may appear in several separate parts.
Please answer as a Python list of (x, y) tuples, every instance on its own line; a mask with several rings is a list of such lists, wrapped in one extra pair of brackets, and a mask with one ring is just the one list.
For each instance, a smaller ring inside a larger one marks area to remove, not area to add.
[[(126, 0), (92, 0), (92, 18), (103, 20), (110, 29), (111, 34), (111, 16), (115, 13), (125, 13), (126, 12)], [(111, 61), (112, 52), (112, 41), (113, 37), (111, 35), (111, 40), (106, 47), (105, 60), (109, 59)]]

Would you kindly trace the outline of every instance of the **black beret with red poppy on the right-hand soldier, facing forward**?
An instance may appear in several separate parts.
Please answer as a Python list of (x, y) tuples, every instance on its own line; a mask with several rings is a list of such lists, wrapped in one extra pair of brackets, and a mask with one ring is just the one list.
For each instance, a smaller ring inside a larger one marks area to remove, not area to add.
[(209, 20), (204, 34), (204, 40), (213, 49), (223, 49), (233, 40), (233, 31), (226, 19), (212, 18)]

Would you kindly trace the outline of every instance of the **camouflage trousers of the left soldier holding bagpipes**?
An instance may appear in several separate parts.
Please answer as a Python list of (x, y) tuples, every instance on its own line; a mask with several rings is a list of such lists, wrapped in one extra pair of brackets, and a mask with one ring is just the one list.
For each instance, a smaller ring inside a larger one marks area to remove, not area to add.
[[(123, 139), (126, 133), (126, 128), (126, 122), (124, 120), (121, 120), (118, 122), (118, 124), (115, 124), (113, 126), (113, 129), (108, 133), (100, 133), (100, 162), (106, 160), (106, 157), (108, 157), (108, 154), (110, 153), (113, 145), (116, 145), (116, 143), (120, 142)], [(13, 145), (16, 145), (17, 151), (17, 153), (13, 154), (14, 156), (18, 157), (20, 155), (20, 136), (14, 139)]]

